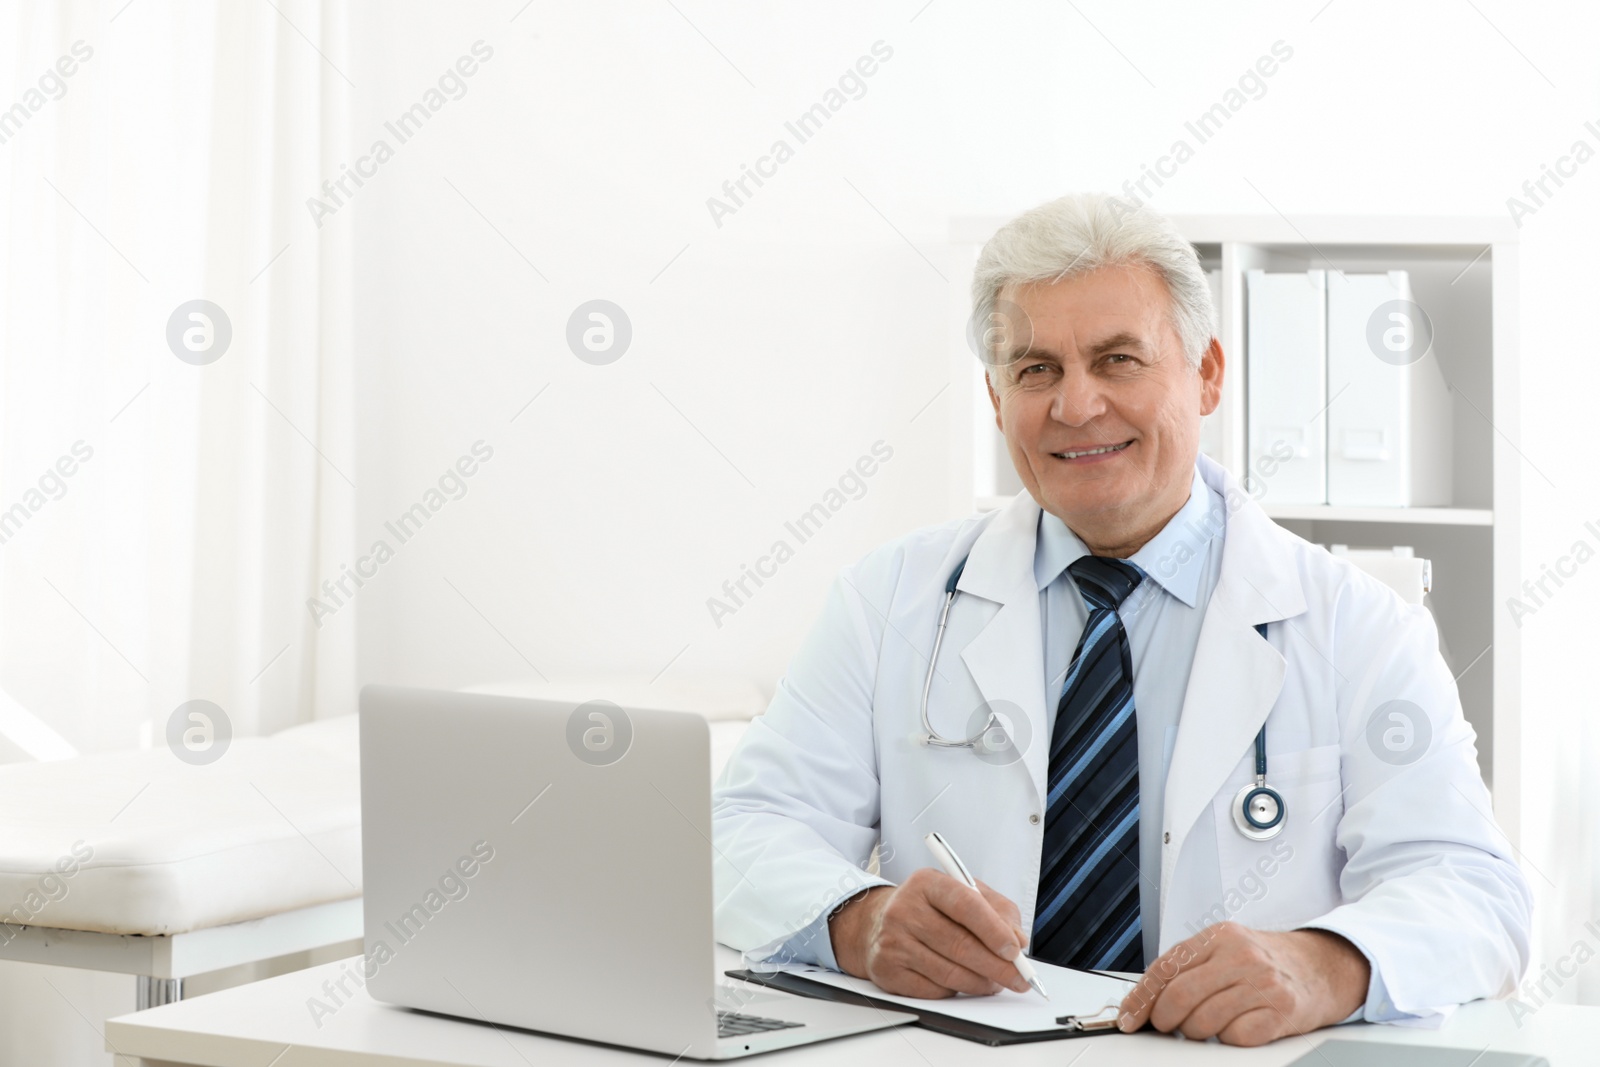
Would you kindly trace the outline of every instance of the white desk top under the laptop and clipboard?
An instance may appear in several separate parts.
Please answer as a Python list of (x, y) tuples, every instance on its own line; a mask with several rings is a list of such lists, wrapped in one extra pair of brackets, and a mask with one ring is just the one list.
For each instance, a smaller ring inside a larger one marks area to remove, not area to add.
[[(718, 949), (720, 969), (738, 966), (738, 953)], [(336, 977), (344, 963), (325, 963), (251, 985), (227, 989), (118, 1016), (106, 1024), (106, 1048), (117, 1053), (117, 1067), (528, 1067), (530, 1064), (666, 1064), (650, 1053), (568, 1041), (478, 1022), (430, 1016), (379, 1005), (357, 992), (318, 1027), (307, 1000), (322, 995), (322, 984)], [(1328, 1038), (1378, 1040), (1414, 1045), (1448, 1045), (1470, 1049), (1462, 1067), (1485, 1046), (1546, 1056), (1550, 1067), (1595, 1062), (1600, 1043), (1600, 1008), (1549, 1005), (1512, 1019), (1504, 1001), (1462, 1006), (1442, 1030), (1411, 1030), (1350, 1024), (1317, 1030), (1306, 1038), (1285, 1038), (1264, 1048), (1181, 1041), (1149, 1033), (1114, 1033), (1067, 1041), (1037, 1041), (989, 1048), (930, 1033), (920, 1027), (896, 1027), (859, 1037), (822, 1041), (747, 1062), (774, 1067), (810, 1064), (872, 1064), (872, 1067), (965, 1067), (974, 1061), (994, 1064), (1048, 1064), (1062, 1067), (1094, 1049), (1091, 1064), (1184, 1064), (1208, 1067), (1280, 1067)]]

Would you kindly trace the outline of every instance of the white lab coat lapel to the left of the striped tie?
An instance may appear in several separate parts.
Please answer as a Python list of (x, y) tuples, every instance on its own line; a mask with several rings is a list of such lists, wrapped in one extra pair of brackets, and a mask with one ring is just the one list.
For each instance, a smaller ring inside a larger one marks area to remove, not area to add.
[(1038, 537), (1038, 504), (1024, 491), (995, 517), (973, 542), (957, 589), (982, 597), (1000, 609), (962, 649), (962, 662), (990, 709), (1005, 718), (1021, 709), (1024, 721), (1008, 726), (1022, 752), (1022, 766), (1034, 789), (1045, 795), (1050, 726), (1045, 720), (1045, 653), (1038, 617), (1038, 582), (1034, 579), (1034, 547)]

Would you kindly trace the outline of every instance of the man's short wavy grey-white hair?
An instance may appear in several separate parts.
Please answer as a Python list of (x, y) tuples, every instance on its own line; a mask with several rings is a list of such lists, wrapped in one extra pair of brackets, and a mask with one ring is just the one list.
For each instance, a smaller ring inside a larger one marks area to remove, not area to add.
[[(1061, 282), (1102, 267), (1149, 269), (1166, 285), (1173, 330), (1189, 366), (1216, 336), (1211, 286), (1200, 254), (1163, 216), (1106, 194), (1074, 194), (1024, 211), (989, 238), (973, 272), (974, 342), (994, 381), (998, 366), (989, 326), (1000, 293), (1030, 282)], [(982, 323), (982, 328), (976, 325)]]

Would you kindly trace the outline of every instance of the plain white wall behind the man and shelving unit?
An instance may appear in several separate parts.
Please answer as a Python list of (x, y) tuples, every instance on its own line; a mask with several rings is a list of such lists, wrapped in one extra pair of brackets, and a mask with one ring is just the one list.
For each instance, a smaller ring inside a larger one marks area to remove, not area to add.
[[(365, 680), (666, 667), (770, 689), (840, 565), (954, 514), (946, 398), (910, 422), (949, 379), (965, 301), (947, 219), (1120, 189), (1274, 42), (1293, 58), (1158, 210), (1498, 214), (1576, 139), (1600, 147), (1600, 13), (1571, 3), (539, 3), (507, 21), (518, 6), (371, 8), (350, 34), (352, 158), (475, 40), (494, 48), (326, 221), (357, 246), (357, 528), (379, 536), (474, 440), (496, 450), (360, 592)], [(866, 94), (715, 226), (706, 198), (878, 40), (893, 58)], [(1523, 219), (1514, 445), (1534, 577), (1600, 518), (1597, 210), (1590, 162)], [(610, 366), (563, 342), (592, 298), (634, 323)], [(866, 498), (714, 625), (706, 598), (877, 440), (894, 458)], [(1525, 619), (1525, 781), (1544, 790), (1526, 851), (1552, 958), (1597, 913), (1571, 889), (1594, 841), (1573, 798), (1600, 749), (1597, 600), (1600, 565)], [(1600, 1000), (1590, 971), (1547, 992)]]

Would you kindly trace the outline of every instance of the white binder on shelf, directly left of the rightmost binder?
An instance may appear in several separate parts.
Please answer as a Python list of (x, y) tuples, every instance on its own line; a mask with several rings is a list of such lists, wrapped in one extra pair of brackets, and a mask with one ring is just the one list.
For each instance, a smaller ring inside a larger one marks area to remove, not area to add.
[(1245, 275), (1245, 488), (1264, 504), (1328, 502), (1326, 291), (1325, 270)]

